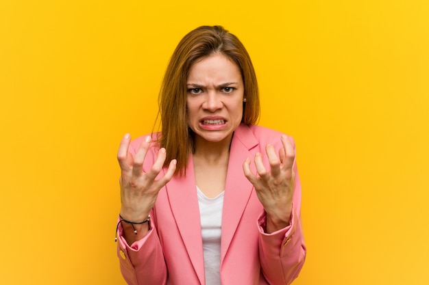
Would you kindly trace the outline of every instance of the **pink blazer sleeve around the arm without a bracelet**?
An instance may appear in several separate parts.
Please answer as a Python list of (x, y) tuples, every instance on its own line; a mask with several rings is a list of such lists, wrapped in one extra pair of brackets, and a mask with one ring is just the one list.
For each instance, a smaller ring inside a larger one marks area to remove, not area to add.
[(301, 271), (306, 258), (306, 246), (301, 221), (301, 182), (294, 163), (295, 189), (291, 223), (286, 228), (265, 233), (267, 216), (258, 218), (259, 256), (262, 273), (271, 285), (291, 284)]

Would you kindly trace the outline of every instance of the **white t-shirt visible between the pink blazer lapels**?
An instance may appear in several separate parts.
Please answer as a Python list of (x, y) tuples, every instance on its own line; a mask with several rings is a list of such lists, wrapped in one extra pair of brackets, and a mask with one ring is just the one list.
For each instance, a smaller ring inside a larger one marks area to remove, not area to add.
[(203, 238), (204, 269), (206, 285), (221, 285), (221, 223), (223, 194), (207, 198), (197, 187), (201, 236)]

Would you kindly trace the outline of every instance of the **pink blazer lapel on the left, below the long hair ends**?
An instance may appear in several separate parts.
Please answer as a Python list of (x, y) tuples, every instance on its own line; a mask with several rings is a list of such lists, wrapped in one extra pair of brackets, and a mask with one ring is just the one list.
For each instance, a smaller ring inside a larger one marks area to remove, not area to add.
[(186, 178), (173, 176), (166, 188), (171, 211), (182, 236), (186, 252), (188, 252), (199, 282), (204, 284), (203, 241), (192, 155), (189, 157), (186, 167)]

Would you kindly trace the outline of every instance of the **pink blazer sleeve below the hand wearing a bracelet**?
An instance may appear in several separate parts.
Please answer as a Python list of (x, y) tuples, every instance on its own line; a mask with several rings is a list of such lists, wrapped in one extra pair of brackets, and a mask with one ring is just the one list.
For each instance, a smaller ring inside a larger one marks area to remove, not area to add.
[[(136, 150), (138, 150), (138, 146), (140, 146), (143, 139), (144, 137), (139, 137), (130, 144), (129, 152), (133, 156), (136, 154)], [(143, 168), (145, 169), (145, 166), (151, 167), (153, 163), (154, 151), (148, 151)], [(131, 246), (125, 241), (123, 228), (119, 223), (117, 232), (119, 267), (121, 268), (123, 278), (130, 285), (162, 285), (167, 283), (167, 264), (164, 260), (164, 254), (156, 230), (156, 216), (153, 210), (150, 215), (149, 232), (147, 232), (143, 239), (134, 242)]]

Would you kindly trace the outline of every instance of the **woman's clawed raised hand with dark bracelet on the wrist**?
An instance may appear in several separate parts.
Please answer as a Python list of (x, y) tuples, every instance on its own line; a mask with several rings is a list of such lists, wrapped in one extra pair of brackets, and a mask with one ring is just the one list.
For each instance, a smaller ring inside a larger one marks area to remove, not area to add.
[[(173, 159), (170, 162), (164, 176), (156, 179), (164, 165), (165, 149), (161, 148), (158, 151), (156, 161), (151, 169), (143, 172), (143, 162), (151, 144), (151, 137), (148, 136), (142, 141), (134, 157), (128, 152), (130, 141), (130, 135), (125, 135), (118, 150), (118, 161), (121, 167), (121, 178), (119, 180), (121, 185), (121, 217), (127, 221), (140, 222), (147, 219), (149, 212), (154, 207), (158, 192), (173, 177), (176, 160)], [(138, 226), (137, 232), (139, 234), (132, 237), (127, 234), (125, 226), (124, 223), (125, 239), (127, 239), (128, 243), (131, 243), (130, 239), (134, 241), (143, 237), (148, 230), (147, 223), (135, 225)]]

